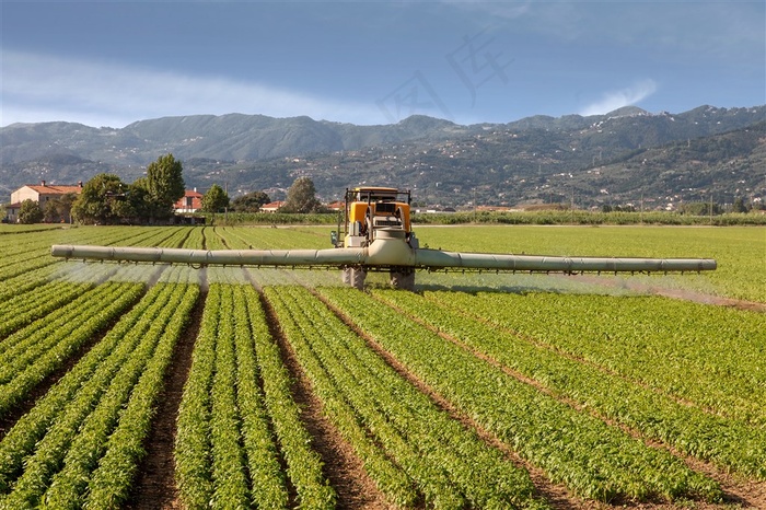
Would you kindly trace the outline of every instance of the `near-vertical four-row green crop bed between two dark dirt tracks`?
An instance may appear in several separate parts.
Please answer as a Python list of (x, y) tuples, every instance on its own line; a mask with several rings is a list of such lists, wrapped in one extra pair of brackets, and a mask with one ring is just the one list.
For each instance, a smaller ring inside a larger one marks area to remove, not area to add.
[(302, 508), (334, 506), (290, 385), (257, 293), (212, 283), (178, 415), (176, 478), (187, 508), (285, 508), (279, 459)]

